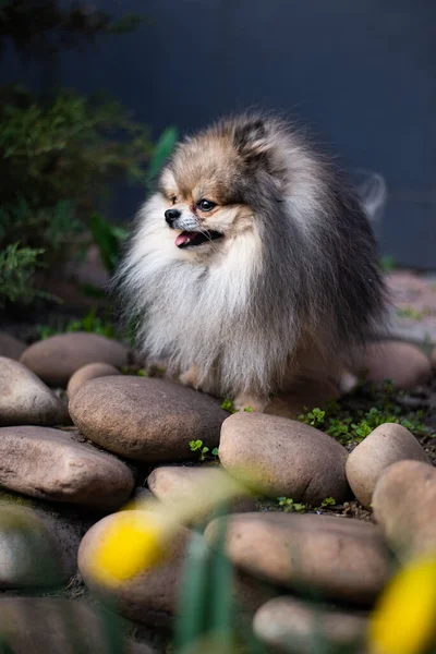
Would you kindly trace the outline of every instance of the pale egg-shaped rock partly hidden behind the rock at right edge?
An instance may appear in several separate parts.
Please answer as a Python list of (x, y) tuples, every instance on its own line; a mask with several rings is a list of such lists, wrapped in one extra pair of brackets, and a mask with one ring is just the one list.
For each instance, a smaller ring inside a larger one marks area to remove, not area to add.
[(396, 423), (386, 423), (375, 428), (353, 449), (347, 459), (347, 479), (364, 507), (370, 507), (376, 482), (383, 471), (404, 459), (429, 463), (413, 434)]

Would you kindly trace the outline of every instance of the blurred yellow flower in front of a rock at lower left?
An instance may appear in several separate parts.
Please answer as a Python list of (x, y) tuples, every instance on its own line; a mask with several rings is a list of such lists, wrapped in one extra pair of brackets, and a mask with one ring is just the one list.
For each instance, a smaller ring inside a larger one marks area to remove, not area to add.
[(93, 572), (106, 584), (117, 584), (160, 562), (170, 547), (173, 526), (157, 512), (123, 511), (99, 536)]

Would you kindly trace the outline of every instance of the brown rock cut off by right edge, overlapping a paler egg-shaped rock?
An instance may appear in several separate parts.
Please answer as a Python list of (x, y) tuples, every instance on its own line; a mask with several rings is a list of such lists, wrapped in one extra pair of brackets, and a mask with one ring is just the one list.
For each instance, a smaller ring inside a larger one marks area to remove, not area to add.
[(436, 552), (436, 469), (419, 461), (389, 465), (375, 486), (373, 511), (401, 560)]

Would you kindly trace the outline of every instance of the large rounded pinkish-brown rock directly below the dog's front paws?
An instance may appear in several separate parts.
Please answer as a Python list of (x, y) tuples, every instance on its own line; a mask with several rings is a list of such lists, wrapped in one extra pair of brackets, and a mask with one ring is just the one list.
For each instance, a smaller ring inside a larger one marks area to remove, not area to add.
[(221, 464), (250, 475), (266, 495), (317, 505), (346, 499), (347, 451), (334, 438), (296, 421), (262, 413), (234, 413), (221, 428)]

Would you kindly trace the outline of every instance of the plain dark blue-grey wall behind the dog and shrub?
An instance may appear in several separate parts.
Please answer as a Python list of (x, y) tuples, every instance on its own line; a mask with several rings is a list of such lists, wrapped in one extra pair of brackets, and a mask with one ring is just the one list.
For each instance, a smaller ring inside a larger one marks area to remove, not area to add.
[[(195, 130), (249, 106), (279, 110), (308, 125), (347, 168), (385, 175), (383, 251), (402, 265), (436, 268), (434, 0), (97, 4), (149, 23), (64, 56), (63, 85), (110, 90), (155, 134), (169, 124)], [(7, 74), (17, 66), (11, 57)], [(32, 69), (20, 74), (36, 83)], [(141, 197), (119, 189), (117, 215), (130, 217)]]

